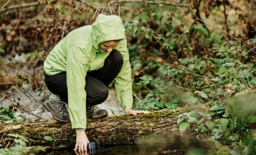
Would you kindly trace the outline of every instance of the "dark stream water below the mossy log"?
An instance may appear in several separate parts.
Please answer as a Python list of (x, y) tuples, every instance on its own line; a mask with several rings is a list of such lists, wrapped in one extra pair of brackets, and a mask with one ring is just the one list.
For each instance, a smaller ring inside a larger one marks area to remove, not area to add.
[[(90, 151), (88, 155), (195, 155), (191, 149), (197, 150), (196, 155), (208, 154), (202, 149), (198, 140), (188, 137), (177, 139), (175, 136), (150, 136), (140, 137), (137, 145), (100, 146), (99, 150)], [(196, 149), (195, 149), (196, 148)], [(197, 149), (200, 148), (200, 149)], [(193, 151), (194, 152), (194, 151)], [(48, 155), (76, 155), (73, 148), (52, 150)], [(44, 155), (47, 153), (44, 153)]]

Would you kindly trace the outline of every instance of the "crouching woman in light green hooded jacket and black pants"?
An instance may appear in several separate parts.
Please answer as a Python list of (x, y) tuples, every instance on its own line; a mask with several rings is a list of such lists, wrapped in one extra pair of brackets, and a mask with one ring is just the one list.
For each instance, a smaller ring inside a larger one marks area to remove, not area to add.
[[(107, 116), (96, 105), (108, 96), (114, 80), (116, 94), (126, 115), (147, 113), (132, 110), (131, 66), (125, 28), (120, 17), (100, 14), (88, 26), (71, 31), (49, 53), (44, 62), (45, 83), (53, 93), (44, 105), (54, 119), (71, 122), (76, 130), (76, 146), (86, 151), (86, 115)], [(68, 103), (68, 112), (65, 106)]]

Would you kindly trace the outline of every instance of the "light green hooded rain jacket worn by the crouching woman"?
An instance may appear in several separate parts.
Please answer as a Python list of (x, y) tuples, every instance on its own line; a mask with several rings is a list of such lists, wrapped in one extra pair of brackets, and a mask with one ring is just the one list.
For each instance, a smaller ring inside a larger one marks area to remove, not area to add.
[(120, 17), (100, 14), (92, 25), (74, 29), (52, 49), (43, 69), (47, 75), (67, 72), (68, 110), (72, 128), (86, 128), (85, 76), (100, 69), (110, 52), (99, 43), (123, 39), (116, 46), (123, 56), (123, 66), (114, 79), (116, 95), (122, 108), (132, 108), (132, 84), (125, 28)]

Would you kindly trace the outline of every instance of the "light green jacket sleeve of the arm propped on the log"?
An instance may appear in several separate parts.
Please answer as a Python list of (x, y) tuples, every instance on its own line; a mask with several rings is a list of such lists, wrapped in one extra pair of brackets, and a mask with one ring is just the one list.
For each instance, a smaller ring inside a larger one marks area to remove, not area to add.
[(126, 39), (121, 40), (116, 47), (123, 56), (123, 66), (118, 76), (114, 79), (116, 96), (121, 102), (121, 107), (124, 109), (132, 108), (132, 83), (131, 83), (131, 65), (129, 62), (129, 53), (127, 49)]

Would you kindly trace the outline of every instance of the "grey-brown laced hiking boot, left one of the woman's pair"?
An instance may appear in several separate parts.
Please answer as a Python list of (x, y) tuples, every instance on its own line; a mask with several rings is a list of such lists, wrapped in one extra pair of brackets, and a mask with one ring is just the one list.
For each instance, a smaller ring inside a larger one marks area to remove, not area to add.
[(60, 122), (69, 122), (69, 114), (67, 112), (65, 102), (62, 102), (59, 95), (51, 94), (49, 100), (46, 100), (43, 106), (52, 113), (54, 119)]

